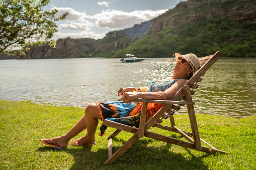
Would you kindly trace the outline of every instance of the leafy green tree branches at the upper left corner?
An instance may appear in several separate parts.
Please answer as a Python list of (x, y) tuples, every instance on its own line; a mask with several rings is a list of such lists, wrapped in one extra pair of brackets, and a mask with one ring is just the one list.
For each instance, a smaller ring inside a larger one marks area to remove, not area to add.
[[(55, 18), (58, 10), (43, 11), (50, 0), (1, 0), (0, 1), (0, 54), (25, 54), (31, 46), (39, 45), (40, 40), (50, 41), (57, 32), (54, 23), (63, 20), (67, 13)], [(17, 51), (16, 51), (17, 52)]]

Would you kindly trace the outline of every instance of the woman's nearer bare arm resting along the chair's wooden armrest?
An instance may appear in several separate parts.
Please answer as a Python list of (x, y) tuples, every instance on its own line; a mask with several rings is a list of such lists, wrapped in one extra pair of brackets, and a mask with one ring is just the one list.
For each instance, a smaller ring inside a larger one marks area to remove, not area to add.
[(157, 91), (157, 92), (124, 92), (123, 97), (121, 98), (125, 103), (131, 102), (133, 99), (154, 99), (154, 100), (167, 100), (172, 98), (178, 90), (186, 83), (185, 79), (180, 79), (175, 82), (172, 86), (170, 86), (165, 91)]

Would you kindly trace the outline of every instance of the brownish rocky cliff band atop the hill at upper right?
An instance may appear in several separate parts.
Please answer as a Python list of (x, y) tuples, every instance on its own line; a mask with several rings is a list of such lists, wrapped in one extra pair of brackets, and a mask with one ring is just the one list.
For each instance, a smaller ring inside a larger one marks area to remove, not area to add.
[[(228, 3), (228, 0), (190, 0), (181, 2), (175, 9), (168, 10), (153, 20), (150, 35), (155, 36), (157, 32), (167, 26), (174, 27), (184, 22), (193, 24), (202, 20), (212, 19), (214, 15), (228, 16), (233, 20), (242, 20), (244, 22), (252, 22), (253, 24), (256, 23), (255, 1), (231, 8), (225, 6), (225, 4)], [(177, 13), (178, 11), (180, 11), (180, 13)]]

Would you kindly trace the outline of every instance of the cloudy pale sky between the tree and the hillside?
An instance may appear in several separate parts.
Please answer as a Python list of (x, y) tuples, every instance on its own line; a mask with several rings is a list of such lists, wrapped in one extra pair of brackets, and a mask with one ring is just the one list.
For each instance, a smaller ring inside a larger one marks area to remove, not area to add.
[(68, 12), (63, 21), (56, 22), (58, 32), (53, 39), (102, 39), (108, 32), (123, 30), (149, 21), (168, 9), (174, 9), (180, 0), (51, 0), (44, 7), (57, 9), (57, 16)]

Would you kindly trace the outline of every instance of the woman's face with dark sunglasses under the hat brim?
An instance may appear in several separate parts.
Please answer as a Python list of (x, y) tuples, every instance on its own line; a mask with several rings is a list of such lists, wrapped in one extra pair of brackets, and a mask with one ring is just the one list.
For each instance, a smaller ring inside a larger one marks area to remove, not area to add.
[(187, 75), (187, 73), (192, 73), (193, 69), (191, 69), (190, 64), (182, 57), (177, 59), (177, 63), (174, 67), (174, 73), (179, 75)]

